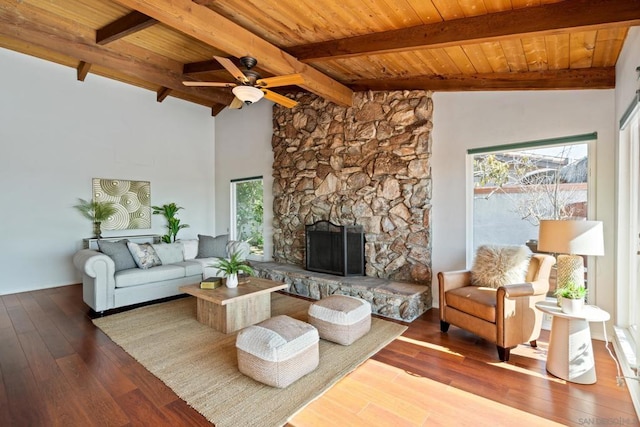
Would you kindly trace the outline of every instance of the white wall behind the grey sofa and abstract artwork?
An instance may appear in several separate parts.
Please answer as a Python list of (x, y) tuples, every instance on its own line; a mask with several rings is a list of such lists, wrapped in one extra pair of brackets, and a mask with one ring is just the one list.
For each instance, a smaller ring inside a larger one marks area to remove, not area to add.
[(81, 281), (71, 259), (92, 224), (71, 206), (92, 178), (150, 181), (152, 204), (185, 208), (179, 237), (214, 231), (208, 108), (4, 49), (0, 70), (0, 294)]

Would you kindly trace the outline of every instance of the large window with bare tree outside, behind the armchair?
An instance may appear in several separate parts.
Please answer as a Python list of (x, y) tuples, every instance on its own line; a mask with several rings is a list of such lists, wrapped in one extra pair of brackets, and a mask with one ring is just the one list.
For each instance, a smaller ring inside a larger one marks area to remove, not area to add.
[[(537, 249), (541, 219), (587, 218), (595, 134), (469, 150), (472, 244)], [(551, 283), (551, 291), (555, 284)]]

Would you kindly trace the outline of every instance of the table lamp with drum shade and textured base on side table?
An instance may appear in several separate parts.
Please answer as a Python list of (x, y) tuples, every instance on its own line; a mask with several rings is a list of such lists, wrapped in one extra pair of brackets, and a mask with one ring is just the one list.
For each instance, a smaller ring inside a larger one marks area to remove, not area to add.
[(580, 255), (604, 255), (602, 221), (541, 220), (538, 250), (558, 254), (557, 287), (570, 282), (584, 286)]

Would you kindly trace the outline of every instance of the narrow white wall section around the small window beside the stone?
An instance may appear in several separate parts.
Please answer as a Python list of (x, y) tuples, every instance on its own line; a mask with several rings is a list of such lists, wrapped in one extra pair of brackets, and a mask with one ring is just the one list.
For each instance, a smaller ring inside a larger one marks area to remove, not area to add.
[(216, 121), (216, 234), (229, 231), (232, 179), (262, 176), (264, 254), (273, 257), (273, 103), (266, 99), (241, 110), (225, 109)]

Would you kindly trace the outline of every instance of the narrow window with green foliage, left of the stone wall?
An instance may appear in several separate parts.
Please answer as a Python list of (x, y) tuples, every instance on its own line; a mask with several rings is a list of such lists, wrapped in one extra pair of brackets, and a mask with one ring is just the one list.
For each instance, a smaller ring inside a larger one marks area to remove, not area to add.
[(251, 259), (263, 259), (263, 213), (262, 177), (232, 180), (230, 238), (248, 242)]

